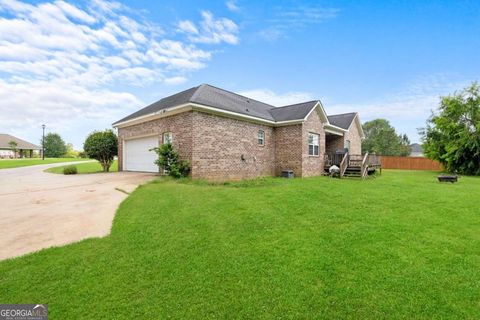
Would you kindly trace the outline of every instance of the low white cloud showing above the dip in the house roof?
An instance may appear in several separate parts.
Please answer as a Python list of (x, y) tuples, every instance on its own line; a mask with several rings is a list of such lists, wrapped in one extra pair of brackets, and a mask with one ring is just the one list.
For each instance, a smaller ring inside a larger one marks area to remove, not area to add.
[(276, 107), (315, 100), (313, 94), (309, 92), (276, 93), (268, 89), (253, 89), (241, 91), (239, 94)]

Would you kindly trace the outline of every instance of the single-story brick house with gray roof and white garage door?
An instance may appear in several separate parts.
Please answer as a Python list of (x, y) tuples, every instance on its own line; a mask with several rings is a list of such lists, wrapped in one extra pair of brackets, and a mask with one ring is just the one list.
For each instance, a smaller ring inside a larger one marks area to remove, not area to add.
[(361, 154), (357, 113), (328, 117), (319, 100), (283, 107), (207, 84), (157, 101), (113, 124), (119, 170), (158, 172), (149, 151), (171, 142), (192, 178), (231, 180), (324, 173), (326, 151)]

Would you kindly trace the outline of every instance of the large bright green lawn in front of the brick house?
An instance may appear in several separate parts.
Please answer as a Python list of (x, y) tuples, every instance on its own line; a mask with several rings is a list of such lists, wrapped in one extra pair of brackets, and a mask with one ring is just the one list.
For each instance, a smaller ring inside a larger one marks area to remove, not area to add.
[(112, 233), (0, 262), (50, 319), (478, 319), (480, 179), (156, 181)]

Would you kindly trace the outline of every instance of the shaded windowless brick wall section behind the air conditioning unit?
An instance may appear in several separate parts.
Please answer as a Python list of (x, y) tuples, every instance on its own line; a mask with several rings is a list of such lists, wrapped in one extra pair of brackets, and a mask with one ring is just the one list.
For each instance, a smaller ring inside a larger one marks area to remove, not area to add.
[(302, 176), (302, 125), (275, 128), (275, 175), (283, 170), (292, 170), (296, 177)]

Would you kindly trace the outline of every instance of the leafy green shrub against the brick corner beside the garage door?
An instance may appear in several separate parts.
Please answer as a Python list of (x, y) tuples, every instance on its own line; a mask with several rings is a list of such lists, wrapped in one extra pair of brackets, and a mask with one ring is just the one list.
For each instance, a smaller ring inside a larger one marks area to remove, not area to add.
[(180, 161), (180, 157), (171, 143), (164, 143), (152, 150), (158, 154), (155, 164), (167, 172), (169, 176), (180, 178), (186, 177), (190, 173), (190, 164), (188, 161)]

